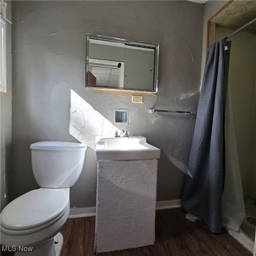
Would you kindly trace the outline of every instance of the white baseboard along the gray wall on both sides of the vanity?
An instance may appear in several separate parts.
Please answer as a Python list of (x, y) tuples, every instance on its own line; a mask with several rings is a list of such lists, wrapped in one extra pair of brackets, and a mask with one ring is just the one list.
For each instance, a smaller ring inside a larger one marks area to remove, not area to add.
[[(181, 207), (181, 200), (166, 200), (166, 201), (157, 201), (156, 210), (170, 209), (170, 208), (179, 208)], [(83, 218), (95, 216), (96, 207), (86, 207), (86, 208), (70, 208), (70, 213), (68, 218)]]

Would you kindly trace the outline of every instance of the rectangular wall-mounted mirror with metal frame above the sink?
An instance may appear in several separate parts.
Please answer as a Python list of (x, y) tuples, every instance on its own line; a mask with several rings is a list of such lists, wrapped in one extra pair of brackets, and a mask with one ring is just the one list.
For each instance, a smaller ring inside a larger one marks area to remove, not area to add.
[(86, 34), (86, 87), (157, 92), (158, 44)]

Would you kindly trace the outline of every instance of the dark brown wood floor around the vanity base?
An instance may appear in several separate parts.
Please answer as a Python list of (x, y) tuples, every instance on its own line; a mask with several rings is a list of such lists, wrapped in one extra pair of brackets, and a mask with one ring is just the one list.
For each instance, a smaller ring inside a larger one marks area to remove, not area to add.
[[(94, 255), (95, 217), (68, 219), (62, 227), (61, 256)], [(181, 208), (156, 211), (156, 242), (97, 256), (252, 256), (225, 230), (213, 234), (203, 220), (191, 222)]]

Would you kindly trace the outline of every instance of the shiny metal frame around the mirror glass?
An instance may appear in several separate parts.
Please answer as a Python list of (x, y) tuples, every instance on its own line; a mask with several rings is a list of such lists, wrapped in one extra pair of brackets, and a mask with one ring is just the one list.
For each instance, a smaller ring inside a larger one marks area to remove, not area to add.
[[(98, 40), (104, 40), (104, 41), (110, 41), (110, 42), (119, 42), (124, 43), (126, 45), (131, 46), (138, 46), (142, 48), (151, 48), (154, 49), (155, 52), (155, 60), (154, 60), (154, 88), (152, 90), (150, 89), (135, 89), (135, 88), (116, 88), (116, 87), (110, 87), (110, 86), (97, 86), (88, 84), (88, 78), (87, 73), (89, 70), (89, 40), (90, 39), (98, 39)], [(128, 39), (122, 39), (122, 38), (115, 38), (110, 36), (100, 36), (95, 34), (88, 34), (86, 33), (86, 67), (85, 67), (85, 86), (86, 88), (90, 89), (104, 89), (104, 90), (117, 90), (117, 91), (133, 91), (133, 92), (146, 92), (146, 93), (152, 93), (156, 94), (158, 90), (158, 58), (159, 58), (159, 44), (152, 44), (152, 43), (146, 43), (146, 42), (140, 42), (140, 41), (132, 41)]]

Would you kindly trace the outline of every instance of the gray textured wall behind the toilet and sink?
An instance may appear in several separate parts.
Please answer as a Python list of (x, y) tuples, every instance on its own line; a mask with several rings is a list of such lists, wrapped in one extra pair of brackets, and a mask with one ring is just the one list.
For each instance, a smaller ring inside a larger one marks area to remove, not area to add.
[[(95, 206), (94, 137), (112, 133), (114, 108), (125, 108), (129, 125), (118, 129), (161, 150), (157, 200), (180, 199), (195, 116), (147, 109), (197, 109), (203, 15), (202, 4), (187, 1), (13, 1), (12, 198), (38, 187), (31, 143), (79, 140), (88, 150), (71, 206)], [(160, 44), (157, 96), (136, 104), (131, 92), (86, 89), (86, 33)]]

